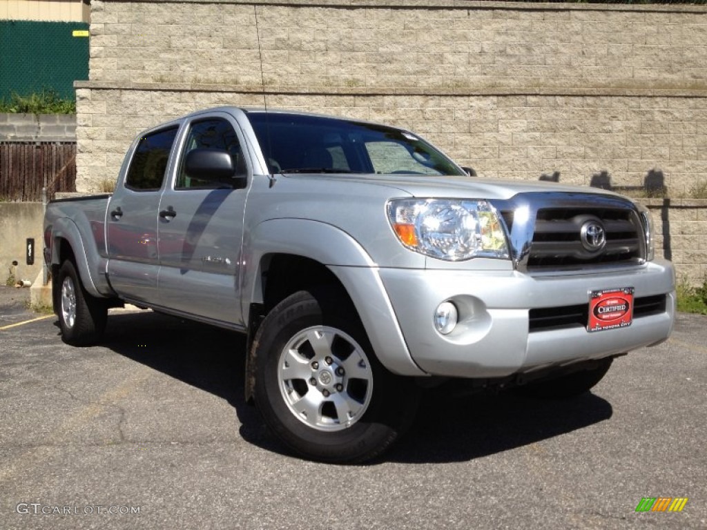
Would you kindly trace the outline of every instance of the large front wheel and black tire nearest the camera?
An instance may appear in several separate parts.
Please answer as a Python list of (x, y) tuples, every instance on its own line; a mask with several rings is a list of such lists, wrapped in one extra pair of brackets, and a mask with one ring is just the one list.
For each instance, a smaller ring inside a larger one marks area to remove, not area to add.
[(253, 341), (255, 404), (298, 456), (358, 464), (411, 425), (419, 389), (385, 370), (341, 300), (300, 291), (269, 312)]

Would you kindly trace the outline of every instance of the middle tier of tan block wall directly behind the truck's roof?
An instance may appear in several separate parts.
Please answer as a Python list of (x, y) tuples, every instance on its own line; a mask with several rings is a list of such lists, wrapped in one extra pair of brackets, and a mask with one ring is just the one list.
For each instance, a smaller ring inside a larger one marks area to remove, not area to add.
[[(650, 170), (661, 170), (673, 196), (689, 194), (707, 179), (707, 134), (686, 132), (699, 126), (707, 132), (707, 98), (699, 100), (702, 110), (677, 110), (676, 105), (695, 101), (671, 100), (669, 107), (667, 98), (629, 96), (264, 96), (230, 90), (79, 88), (77, 100), (76, 186), (84, 191), (103, 179), (115, 179), (141, 129), (213, 105), (262, 107), (264, 102), (407, 127), (474, 167), (480, 177), (537, 179), (559, 171), (563, 183), (588, 185), (593, 175), (608, 171), (615, 186), (639, 186)], [(655, 119), (663, 119), (662, 124)], [(655, 127), (675, 132), (650, 133)]]

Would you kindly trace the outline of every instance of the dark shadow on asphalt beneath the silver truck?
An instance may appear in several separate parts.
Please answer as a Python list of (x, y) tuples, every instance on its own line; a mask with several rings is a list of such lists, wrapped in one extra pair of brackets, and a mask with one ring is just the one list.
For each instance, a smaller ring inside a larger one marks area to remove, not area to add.
[[(112, 314), (103, 346), (225, 399), (244, 440), (286, 454), (245, 403), (245, 336), (154, 312)], [(423, 394), (407, 435), (381, 461), (465, 461), (546, 440), (607, 420), (612, 406), (595, 394), (543, 401), (501, 392), (469, 394), (463, 384)]]

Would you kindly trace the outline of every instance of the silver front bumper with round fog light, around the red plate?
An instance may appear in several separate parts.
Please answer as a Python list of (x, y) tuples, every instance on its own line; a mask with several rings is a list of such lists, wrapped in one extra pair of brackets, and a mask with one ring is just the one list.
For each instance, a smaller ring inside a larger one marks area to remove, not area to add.
[[(411, 358), (429, 375), (505, 377), (625, 353), (665, 341), (674, 320), (669, 261), (604, 273), (530, 276), (518, 271), (380, 269)], [(665, 295), (665, 310), (634, 316), (631, 326), (589, 333), (578, 324), (530, 331), (530, 310), (589, 303), (593, 290), (635, 288), (636, 298)], [(460, 322), (442, 335), (433, 325), (452, 300)]]

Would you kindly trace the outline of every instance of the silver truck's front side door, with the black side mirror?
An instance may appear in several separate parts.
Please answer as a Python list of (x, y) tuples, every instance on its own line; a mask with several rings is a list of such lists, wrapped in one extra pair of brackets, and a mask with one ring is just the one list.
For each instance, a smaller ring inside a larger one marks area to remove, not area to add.
[(182, 136), (175, 177), (165, 187), (159, 208), (160, 305), (239, 327), (247, 188), (234, 187), (230, 177), (221, 182), (191, 177), (185, 157), (194, 148), (225, 150), (236, 175), (248, 175), (243, 135), (230, 114), (213, 112), (190, 119)]

